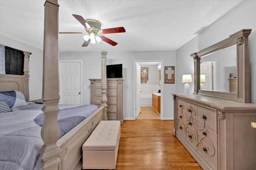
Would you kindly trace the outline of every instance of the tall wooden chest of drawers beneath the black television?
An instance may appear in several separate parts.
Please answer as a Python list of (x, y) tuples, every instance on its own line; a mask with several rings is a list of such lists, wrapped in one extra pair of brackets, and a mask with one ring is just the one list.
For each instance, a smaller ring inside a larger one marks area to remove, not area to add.
[[(101, 105), (101, 79), (89, 79), (91, 81), (91, 104)], [(122, 78), (107, 78), (107, 117), (108, 120), (123, 118), (123, 81)]]

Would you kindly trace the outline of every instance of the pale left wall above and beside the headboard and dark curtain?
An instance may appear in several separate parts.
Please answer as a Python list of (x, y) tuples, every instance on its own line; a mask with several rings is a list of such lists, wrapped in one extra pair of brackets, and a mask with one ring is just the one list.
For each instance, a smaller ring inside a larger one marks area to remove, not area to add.
[(0, 44), (32, 53), (29, 58), (29, 99), (42, 99), (43, 51), (14, 39), (5, 37), (4, 35), (0, 35)]

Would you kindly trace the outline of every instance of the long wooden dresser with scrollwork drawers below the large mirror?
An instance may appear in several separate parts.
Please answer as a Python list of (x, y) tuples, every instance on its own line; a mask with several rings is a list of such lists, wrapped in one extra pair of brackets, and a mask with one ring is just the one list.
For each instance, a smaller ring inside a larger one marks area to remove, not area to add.
[(174, 129), (205, 170), (256, 168), (256, 104), (196, 94), (172, 94)]

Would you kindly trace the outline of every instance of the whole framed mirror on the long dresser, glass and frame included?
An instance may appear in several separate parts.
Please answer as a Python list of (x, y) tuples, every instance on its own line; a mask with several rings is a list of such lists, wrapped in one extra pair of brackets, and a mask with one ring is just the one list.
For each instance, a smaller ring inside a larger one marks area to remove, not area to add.
[(194, 58), (194, 94), (250, 103), (248, 36), (242, 29), (190, 55)]

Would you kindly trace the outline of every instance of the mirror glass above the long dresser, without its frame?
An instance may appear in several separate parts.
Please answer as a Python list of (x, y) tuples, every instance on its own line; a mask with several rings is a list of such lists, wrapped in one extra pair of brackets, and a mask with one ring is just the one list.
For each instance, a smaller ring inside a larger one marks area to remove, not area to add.
[(236, 45), (201, 57), (200, 90), (236, 93), (236, 65)]

